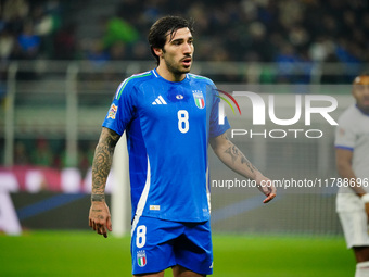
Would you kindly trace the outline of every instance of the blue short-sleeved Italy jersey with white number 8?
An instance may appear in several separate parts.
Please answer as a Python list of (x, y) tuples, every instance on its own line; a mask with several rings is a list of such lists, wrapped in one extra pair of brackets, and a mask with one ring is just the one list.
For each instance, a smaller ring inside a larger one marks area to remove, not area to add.
[(230, 127), (218, 124), (215, 89), (205, 77), (173, 83), (155, 70), (118, 87), (103, 126), (126, 130), (132, 217), (209, 219), (208, 139)]

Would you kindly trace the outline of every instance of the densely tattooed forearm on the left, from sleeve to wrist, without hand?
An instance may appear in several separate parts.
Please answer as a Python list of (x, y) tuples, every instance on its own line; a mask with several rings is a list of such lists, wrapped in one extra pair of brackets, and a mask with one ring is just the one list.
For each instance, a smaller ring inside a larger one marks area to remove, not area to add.
[(119, 137), (118, 134), (109, 128), (103, 128), (101, 131), (92, 162), (91, 201), (101, 202), (105, 199), (106, 179), (112, 167), (114, 149)]

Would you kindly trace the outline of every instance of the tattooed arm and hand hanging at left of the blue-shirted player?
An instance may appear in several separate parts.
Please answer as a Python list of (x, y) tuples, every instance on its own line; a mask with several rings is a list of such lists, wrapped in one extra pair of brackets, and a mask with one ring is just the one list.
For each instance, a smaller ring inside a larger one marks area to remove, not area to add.
[(89, 226), (105, 238), (107, 238), (107, 230), (112, 231), (111, 213), (105, 203), (105, 185), (112, 167), (114, 149), (119, 137), (115, 131), (102, 128), (92, 162)]

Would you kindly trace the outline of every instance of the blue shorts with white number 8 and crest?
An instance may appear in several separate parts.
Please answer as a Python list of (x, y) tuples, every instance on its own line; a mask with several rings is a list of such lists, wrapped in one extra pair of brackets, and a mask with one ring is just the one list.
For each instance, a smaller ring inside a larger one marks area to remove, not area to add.
[(141, 216), (132, 230), (130, 251), (133, 275), (157, 273), (174, 265), (213, 274), (209, 221), (179, 223)]

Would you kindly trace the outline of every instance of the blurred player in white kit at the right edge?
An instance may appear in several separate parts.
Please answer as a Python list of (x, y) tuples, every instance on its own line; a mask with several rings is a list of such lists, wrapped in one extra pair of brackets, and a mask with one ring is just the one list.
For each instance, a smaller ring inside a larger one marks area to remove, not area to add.
[(356, 257), (356, 277), (369, 276), (369, 75), (353, 83), (356, 104), (339, 118), (335, 134), (336, 166), (341, 178), (351, 187), (341, 186), (336, 211), (347, 248)]

